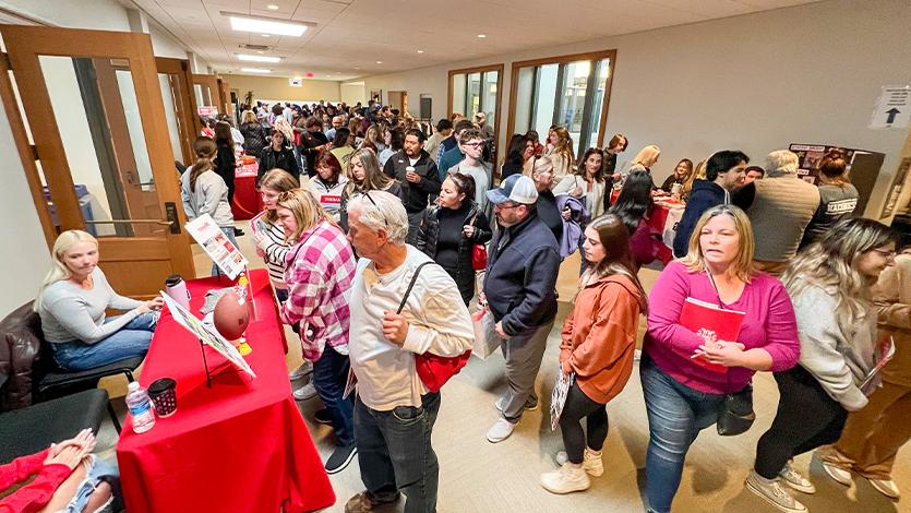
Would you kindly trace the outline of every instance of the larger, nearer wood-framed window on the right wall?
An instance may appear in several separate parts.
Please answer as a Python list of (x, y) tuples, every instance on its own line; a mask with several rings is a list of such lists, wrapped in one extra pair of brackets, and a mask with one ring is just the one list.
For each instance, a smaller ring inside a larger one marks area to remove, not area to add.
[(513, 63), (510, 133), (535, 130), (543, 139), (551, 126), (566, 127), (573, 152), (603, 145), (615, 51)]

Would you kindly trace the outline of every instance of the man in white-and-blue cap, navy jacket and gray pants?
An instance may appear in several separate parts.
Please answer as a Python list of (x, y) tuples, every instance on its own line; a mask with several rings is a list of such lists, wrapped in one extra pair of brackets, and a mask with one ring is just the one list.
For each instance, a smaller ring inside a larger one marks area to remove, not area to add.
[(512, 175), (488, 191), (502, 229), (488, 250), (484, 295), (503, 338), (508, 389), (495, 403), (501, 418), (488, 431), (491, 443), (506, 440), (523, 410), (538, 407), (535, 380), (548, 334), (556, 318), (556, 238), (538, 217), (538, 190), (524, 175)]

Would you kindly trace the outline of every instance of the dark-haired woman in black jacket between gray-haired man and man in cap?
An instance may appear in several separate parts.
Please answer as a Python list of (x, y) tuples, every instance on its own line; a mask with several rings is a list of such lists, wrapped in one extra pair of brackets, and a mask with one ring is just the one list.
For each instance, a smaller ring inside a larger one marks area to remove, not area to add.
[(475, 179), (451, 172), (440, 189), (437, 206), (424, 211), (417, 247), (449, 273), (465, 305), (475, 296), (472, 254), (490, 240), (490, 223), (475, 198)]

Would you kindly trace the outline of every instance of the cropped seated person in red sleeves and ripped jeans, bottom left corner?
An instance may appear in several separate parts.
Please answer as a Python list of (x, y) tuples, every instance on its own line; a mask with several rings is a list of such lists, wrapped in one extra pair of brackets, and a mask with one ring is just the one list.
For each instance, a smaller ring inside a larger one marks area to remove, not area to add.
[(93, 455), (94, 449), (95, 436), (83, 429), (39, 453), (0, 465), (0, 496), (23, 484), (0, 499), (0, 512), (93, 513), (119, 502), (110, 485), (117, 481), (117, 467)]

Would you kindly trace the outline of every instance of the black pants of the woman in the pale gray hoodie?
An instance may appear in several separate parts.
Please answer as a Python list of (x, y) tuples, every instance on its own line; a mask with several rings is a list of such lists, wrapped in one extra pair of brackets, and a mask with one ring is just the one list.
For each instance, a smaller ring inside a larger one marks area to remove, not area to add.
[(801, 366), (776, 372), (781, 399), (771, 428), (756, 445), (756, 474), (775, 479), (792, 457), (841, 437), (846, 410)]

